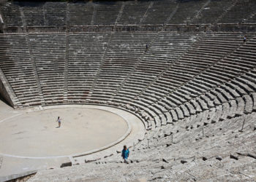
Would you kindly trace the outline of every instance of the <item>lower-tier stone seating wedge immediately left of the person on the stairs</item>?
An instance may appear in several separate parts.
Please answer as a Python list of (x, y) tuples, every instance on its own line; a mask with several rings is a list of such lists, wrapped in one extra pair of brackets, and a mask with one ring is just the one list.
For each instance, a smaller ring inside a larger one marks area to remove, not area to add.
[[(108, 98), (134, 68), (156, 33), (115, 33), (92, 97)], [(102, 96), (101, 96), (102, 95)], [(104, 95), (104, 96), (103, 96)]]

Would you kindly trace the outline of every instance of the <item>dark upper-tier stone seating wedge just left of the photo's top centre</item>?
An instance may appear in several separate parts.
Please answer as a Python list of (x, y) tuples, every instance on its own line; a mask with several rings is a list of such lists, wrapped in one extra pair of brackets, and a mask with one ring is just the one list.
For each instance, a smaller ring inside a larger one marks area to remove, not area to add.
[(114, 25), (121, 8), (121, 1), (102, 1), (96, 4), (94, 25)]

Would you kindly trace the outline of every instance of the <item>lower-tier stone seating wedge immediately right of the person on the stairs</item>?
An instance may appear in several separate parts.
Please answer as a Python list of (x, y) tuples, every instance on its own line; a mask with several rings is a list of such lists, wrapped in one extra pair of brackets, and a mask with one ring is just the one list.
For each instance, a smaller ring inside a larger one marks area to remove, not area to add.
[[(129, 79), (138, 79), (142, 76), (140, 79), (143, 83), (150, 84), (162, 71), (172, 65), (196, 41), (196, 38), (197, 34), (194, 33), (161, 33)], [(132, 84), (129, 79), (126, 83)]]

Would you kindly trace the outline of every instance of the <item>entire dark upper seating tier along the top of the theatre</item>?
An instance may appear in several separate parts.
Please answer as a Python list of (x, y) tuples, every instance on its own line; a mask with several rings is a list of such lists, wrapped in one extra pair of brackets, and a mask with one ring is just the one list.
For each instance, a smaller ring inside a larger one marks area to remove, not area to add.
[(256, 23), (254, 0), (6, 2), (7, 27)]

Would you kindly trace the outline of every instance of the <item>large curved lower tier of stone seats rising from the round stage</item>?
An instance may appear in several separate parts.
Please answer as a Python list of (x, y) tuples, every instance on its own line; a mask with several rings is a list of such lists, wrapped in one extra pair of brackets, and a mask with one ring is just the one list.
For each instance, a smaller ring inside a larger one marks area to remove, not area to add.
[(204, 111), (252, 113), (255, 45), (241, 33), (14, 34), (1, 36), (0, 68), (20, 106), (116, 106), (156, 130)]

